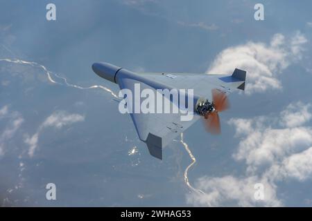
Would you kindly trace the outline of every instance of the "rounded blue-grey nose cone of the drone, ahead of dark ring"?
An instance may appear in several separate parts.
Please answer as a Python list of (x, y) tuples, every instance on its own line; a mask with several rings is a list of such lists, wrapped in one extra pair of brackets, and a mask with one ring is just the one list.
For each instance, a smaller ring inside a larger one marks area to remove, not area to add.
[(92, 64), (92, 70), (96, 75), (103, 77), (104, 79), (107, 79), (109, 81), (115, 82), (115, 75), (118, 70), (120, 70), (120, 67), (114, 66), (109, 63), (105, 62), (96, 62)]

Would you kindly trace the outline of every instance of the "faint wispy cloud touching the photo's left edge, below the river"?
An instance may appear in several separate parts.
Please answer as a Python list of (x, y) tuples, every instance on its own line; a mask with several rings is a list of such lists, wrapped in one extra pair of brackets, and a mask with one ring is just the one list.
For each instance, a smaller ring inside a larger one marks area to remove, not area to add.
[(24, 122), (24, 118), (21, 117), (17, 111), (9, 112), (8, 105), (0, 109), (0, 120), (2, 120), (3, 117), (8, 118), (8, 123), (4, 127), (4, 130), (1, 131), (0, 135), (0, 156), (4, 154), (7, 142), (14, 137), (15, 133)]

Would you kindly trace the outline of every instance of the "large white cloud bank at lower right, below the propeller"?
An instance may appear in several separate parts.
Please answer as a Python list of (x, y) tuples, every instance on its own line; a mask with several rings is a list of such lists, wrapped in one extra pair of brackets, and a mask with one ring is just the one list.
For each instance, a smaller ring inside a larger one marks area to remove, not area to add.
[[(279, 182), (292, 179), (304, 182), (312, 175), (311, 104), (288, 105), (277, 117), (232, 118), (240, 139), (232, 157), (245, 164), (245, 175), (200, 177), (187, 202), (196, 206), (282, 206), (277, 198)], [(280, 124), (279, 124), (280, 122)], [(264, 186), (264, 200), (255, 200), (254, 184)]]

